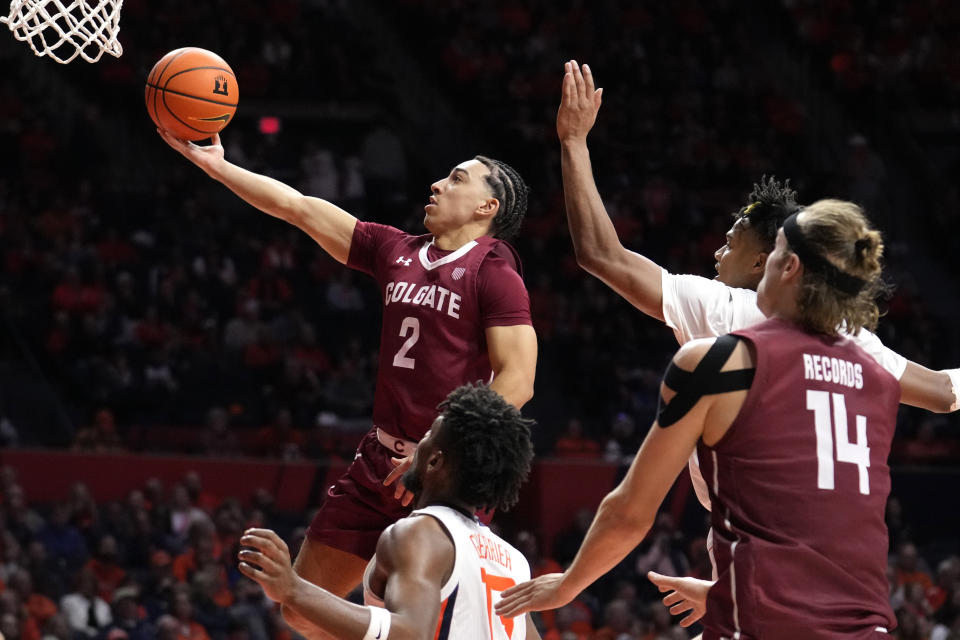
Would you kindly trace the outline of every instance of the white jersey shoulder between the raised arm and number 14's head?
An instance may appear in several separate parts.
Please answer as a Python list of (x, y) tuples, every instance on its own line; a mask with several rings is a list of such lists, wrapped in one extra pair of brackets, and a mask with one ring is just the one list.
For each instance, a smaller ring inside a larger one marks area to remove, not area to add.
[(728, 287), (719, 280), (661, 272), (663, 319), (677, 342), (722, 336), (763, 321), (757, 292)]

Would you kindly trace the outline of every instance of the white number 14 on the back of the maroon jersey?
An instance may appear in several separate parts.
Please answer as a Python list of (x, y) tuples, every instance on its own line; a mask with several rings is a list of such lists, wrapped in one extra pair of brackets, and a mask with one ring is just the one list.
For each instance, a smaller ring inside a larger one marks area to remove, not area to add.
[[(833, 399), (833, 420), (830, 400)], [(867, 419), (857, 416), (857, 441), (850, 442), (847, 432), (847, 403), (842, 393), (807, 390), (807, 409), (813, 411), (817, 433), (817, 488), (834, 489), (833, 442), (837, 442), (837, 462), (857, 465), (860, 471), (860, 493), (870, 495), (870, 447), (867, 446)]]

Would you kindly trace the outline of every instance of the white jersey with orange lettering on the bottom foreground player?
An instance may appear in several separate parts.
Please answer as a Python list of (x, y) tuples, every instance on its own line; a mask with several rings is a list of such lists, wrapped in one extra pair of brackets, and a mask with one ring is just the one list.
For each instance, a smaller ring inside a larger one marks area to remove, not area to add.
[[(486, 525), (455, 509), (434, 505), (408, 517), (420, 516), (440, 522), (453, 539), (456, 553), (450, 579), (440, 589), (434, 640), (524, 640), (525, 616), (501, 618), (493, 612), (501, 591), (530, 579), (530, 565), (523, 554)], [(369, 573), (363, 579), (363, 600), (382, 607), (383, 600), (370, 590)]]

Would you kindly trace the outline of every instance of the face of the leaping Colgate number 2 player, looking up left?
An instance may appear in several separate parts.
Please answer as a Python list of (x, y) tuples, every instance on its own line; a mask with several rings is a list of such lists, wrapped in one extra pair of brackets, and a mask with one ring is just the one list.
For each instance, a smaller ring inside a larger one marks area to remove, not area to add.
[(459, 229), (494, 200), (486, 183), (490, 170), (479, 160), (461, 162), (450, 175), (430, 185), (423, 224), (435, 236)]

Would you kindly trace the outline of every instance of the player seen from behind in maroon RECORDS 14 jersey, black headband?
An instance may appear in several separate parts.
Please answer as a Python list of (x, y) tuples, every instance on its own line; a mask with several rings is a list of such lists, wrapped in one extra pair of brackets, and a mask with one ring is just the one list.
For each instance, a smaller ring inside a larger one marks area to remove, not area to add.
[(854, 204), (822, 200), (788, 217), (757, 293), (769, 320), (680, 348), (657, 420), (570, 568), (504, 592), (497, 613), (561, 606), (613, 568), (696, 448), (719, 572), (705, 640), (888, 637), (898, 385), (837, 331), (876, 323), (881, 253)]

